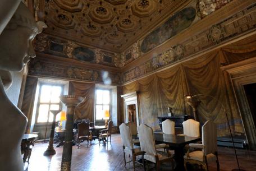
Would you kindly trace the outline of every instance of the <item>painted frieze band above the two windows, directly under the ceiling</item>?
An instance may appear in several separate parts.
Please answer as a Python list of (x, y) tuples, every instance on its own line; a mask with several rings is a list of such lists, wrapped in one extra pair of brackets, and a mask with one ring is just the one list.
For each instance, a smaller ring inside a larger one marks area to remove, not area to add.
[(111, 67), (122, 67), (125, 62), (120, 54), (104, 52), (100, 49), (81, 47), (70, 40), (60, 40), (47, 34), (36, 36), (35, 50), (39, 53), (70, 58), (83, 62), (99, 63)]

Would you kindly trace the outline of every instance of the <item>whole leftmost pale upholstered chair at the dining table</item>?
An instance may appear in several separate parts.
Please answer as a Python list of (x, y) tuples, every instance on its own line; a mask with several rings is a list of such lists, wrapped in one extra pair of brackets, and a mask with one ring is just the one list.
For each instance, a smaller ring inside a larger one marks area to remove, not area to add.
[[(143, 152), (140, 150), (140, 146), (135, 146), (134, 143), (137, 143), (138, 141), (132, 140), (132, 134), (131, 134), (131, 127), (127, 126), (127, 124), (122, 123), (119, 126), (120, 130), (120, 135), (121, 135), (121, 140), (122, 140), (122, 147), (124, 150), (124, 160), (125, 160), (125, 165), (126, 163), (130, 163), (132, 161), (134, 170), (135, 170), (135, 161), (136, 161), (136, 156), (142, 155)], [(127, 161), (125, 159), (125, 154), (129, 154), (129, 156), (132, 156), (132, 160)]]

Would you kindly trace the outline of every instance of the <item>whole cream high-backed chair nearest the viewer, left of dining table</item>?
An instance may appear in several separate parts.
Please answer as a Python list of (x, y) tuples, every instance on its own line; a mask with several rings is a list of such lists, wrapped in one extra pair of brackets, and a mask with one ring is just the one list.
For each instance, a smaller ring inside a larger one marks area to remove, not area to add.
[(145, 152), (145, 154), (143, 155), (143, 164), (145, 163), (144, 159), (152, 161), (153, 163), (156, 163), (156, 170), (158, 171), (159, 165), (161, 163), (165, 161), (173, 161), (172, 156), (170, 154), (156, 150), (156, 144), (154, 141), (154, 134), (152, 128), (150, 128), (146, 124), (141, 124), (138, 127), (138, 133), (141, 151)]

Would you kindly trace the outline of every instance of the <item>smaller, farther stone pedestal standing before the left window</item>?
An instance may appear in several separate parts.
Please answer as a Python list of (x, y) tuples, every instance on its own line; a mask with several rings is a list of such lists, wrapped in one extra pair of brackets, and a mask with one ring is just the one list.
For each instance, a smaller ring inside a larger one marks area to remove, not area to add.
[(54, 137), (54, 131), (55, 131), (55, 122), (56, 122), (56, 115), (61, 112), (61, 110), (50, 110), (53, 114), (53, 121), (52, 121), (52, 128), (51, 128), (51, 135), (49, 140), (48, 148), (44, 151), (44, 155), (54, 155), (56, 154), (56, 151), (53, 147), (53, 137)]

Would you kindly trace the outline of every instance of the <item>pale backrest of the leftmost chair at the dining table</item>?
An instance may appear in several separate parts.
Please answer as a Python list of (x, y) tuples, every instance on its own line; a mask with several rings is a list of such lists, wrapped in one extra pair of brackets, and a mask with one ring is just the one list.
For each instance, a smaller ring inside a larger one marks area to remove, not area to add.
[(119, 130), (120, 130), (122, 145), (125, 146), (125, 147), (128, 147), (130, 149), (133, 149), (133, 145), (132, 145), (132, 142), (131, 142), (132, 137), (131, 137), (130, 127), (127, 126), (127, 124), (122, 123), (119, 126)]

